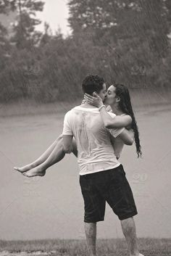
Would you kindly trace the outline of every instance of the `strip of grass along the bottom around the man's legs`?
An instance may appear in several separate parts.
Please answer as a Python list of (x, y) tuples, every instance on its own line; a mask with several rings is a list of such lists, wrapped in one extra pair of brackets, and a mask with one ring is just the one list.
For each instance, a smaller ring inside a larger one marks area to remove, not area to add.
[[(138, 239), (140, 252), (145, 256), (170, 256), (171, 239)], [(98, 256), (128, 256), (125, 239), (97, 239), (96, 250)], [(0, 255), (2, 252), (12, 255), (61, 255), (84, 256), (88, 255), (86, 240), (47, 239), (30, 241), (0, 240)], [(22, 253), (21, 253), (22, 252)]]

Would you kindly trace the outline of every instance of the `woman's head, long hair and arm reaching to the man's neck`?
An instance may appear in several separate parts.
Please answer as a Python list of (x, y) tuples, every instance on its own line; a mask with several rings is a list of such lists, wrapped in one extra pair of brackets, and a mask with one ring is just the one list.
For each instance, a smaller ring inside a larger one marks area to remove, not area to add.
[[(141, 145), (139, 140), (138, 126), (135, 121), (135, 116), (133, 114), (132, 104), (130, 102), (130, 94), (128, 88), (122, 84), (115, 84), (108, 88), (107, 97), (104, 100), (104, 104), (108, 104), (110, 107), (105, 108), (101, 98), (93, 93), (93, 96), (85, 94), (85, 99), (88, 103), (99, 107), (101, 118), (104, 122), (106, 128), (132, 128), (135, 137), (135, 146), (138, 157), (141, 156)], [(104, 107), (102, 107), (104, 106)], [(117, 117), (112, 118), (107, 111), (114, 112)], [(118, 116), (120, 115), (120, 116)], [(116, 139), (115, 139), (116, 140)], [(114, 151), (115, 152), (115, 151)]]

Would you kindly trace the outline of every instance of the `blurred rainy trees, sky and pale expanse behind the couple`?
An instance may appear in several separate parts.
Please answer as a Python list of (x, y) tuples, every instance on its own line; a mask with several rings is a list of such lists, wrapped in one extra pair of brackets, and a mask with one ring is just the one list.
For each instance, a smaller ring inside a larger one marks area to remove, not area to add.
[[(143, 158), (120, 162), (140, 237), (170, 237), (170, 0), (0, 1), (0, 239), (85, 239), (83, 197), (70, 154), (43, 178), (13, 170), (39, 157), (81, 103), (88, 73), (130, 89)], [(107, 205), (99, 238), (123, 237)]]

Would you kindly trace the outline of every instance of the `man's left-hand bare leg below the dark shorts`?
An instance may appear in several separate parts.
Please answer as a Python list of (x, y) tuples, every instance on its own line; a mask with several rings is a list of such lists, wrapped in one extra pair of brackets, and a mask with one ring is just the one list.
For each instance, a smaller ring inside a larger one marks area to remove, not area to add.
[(86, 241), (91, 256), (96, 256), (96, 222), (84, 223)]

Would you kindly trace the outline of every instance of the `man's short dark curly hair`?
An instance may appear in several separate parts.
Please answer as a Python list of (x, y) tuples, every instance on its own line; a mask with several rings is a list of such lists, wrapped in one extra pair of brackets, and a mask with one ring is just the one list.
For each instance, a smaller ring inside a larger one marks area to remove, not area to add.
[(83, 92), (92, 96), (93, 91), (99, 93), (103, 89), (104, 78), (99, 75), (86, 75), (82, 83)]

